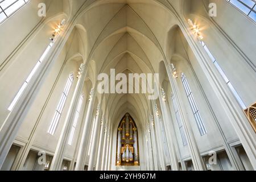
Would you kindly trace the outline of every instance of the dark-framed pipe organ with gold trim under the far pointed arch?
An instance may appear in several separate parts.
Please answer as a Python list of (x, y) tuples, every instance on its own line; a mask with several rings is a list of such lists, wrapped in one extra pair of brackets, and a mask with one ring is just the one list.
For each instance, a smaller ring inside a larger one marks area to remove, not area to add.
[(117, 166), (139, 166), (138, 131), (130, 114), (118, 126)]

